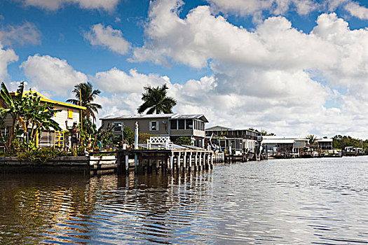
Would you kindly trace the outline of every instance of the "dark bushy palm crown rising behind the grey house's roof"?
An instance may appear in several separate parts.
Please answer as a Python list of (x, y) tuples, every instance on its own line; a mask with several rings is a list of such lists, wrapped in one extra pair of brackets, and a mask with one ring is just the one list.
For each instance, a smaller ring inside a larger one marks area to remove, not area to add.
[(168, 86), (163, 84), (161, 87), (151, 87), (147, 85), (144, 88), (144, 93), (142, 94), (143, 104), (138, 107), (138, 113), (142, 114), (147, 111), (147, 114), (159, 113), (172, 113), (172, 107), (174, 107), (177, 102), (172, 97), (166, 96), (166, 90)]

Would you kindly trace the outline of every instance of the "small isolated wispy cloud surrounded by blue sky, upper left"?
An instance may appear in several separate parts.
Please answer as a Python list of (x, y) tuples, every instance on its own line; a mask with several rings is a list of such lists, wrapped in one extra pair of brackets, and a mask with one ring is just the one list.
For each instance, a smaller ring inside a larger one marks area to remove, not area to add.
[(90, 31), (84, 34), (91, 45), (100, 45), (120, 55), (124, 55), (130, 48), (130, 43), (123, 38), (120, 30), (104, 27), (102, 24), (93, 25)]

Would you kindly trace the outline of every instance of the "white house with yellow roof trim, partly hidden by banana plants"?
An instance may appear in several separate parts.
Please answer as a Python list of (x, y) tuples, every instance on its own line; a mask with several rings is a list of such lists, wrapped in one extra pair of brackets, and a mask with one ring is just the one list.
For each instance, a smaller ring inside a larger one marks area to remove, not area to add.
[[(27, 92), (25, 92), (27, 93)], [(62, 128), (62, 130), (67, 130), (66, 122), (68, 127), (73, 126), (73, 123), (79, 124), (81, 120), (81, 110), (86, 110), (86, 107), (84, 106), (77, 106), (75, 104), (69, 104), (66, 102), (57, 102), (53, 99), (48, 99), (43, 94), (40, 94), (39, 92), (32, 91), (32, 93), (36, 93), (41, 97), (41, 103), (48, 103), (53, 104), (55, 109), (61, 109), (62, 111), (59, 111), (55, 113), (53, 120), (55, 120), (56, 123), (59, 124), (59, 126)], [(12, 96), (15, 95), (15, 92), (10, 93)], [(0, 97), (0, 106), (6, 107), (6, 103), (4, 102), (4, 99)], [(11, 116), (7, 116), (5, 120), (5, 128), (2, 128), (2, 132), (6, 134), (8, 131), (8, 128), (11, 127), (12, 120)], [(54, 144), (54, 137), (55, 132), (41, 132), (41, 138), (39, 138), (39, 147), (48, 147), (53, 146)]]

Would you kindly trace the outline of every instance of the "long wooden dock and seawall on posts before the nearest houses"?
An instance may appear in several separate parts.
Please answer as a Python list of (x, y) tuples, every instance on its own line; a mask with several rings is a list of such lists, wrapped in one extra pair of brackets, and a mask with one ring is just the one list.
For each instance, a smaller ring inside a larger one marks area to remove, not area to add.
[[(98, 153), (97, 153), (98, 154)], [(107, 154), (101, 152), (100, 154)], [(224, 153), (193, 149), (121, 150), (103, 156), (64, 156), (46, 162), (27, 162), (18, 158), (1, 157), (0, 172), (83, 173), (93, 175), (129, 173), (144, 174), (162, 171), (199, 171), (212, 169), (224, 162)]]

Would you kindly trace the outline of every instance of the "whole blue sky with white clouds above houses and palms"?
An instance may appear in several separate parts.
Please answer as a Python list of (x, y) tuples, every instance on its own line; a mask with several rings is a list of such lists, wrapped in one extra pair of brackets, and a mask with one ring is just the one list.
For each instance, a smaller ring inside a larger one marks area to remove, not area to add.
[(89, 81), (97, 118), (166, 83), (207, 127), (368, 139), (368, 0), (0, 0), (0, 80)]

